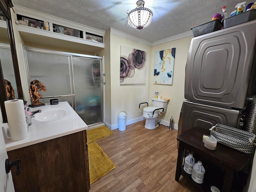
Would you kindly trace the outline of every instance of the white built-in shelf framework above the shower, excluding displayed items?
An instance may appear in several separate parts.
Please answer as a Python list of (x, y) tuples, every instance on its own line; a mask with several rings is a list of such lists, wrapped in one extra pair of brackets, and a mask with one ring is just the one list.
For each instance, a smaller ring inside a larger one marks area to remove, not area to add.
[[(52, 46), (60, 48), (62, 50), (78, 50), (78, 53), (81, 54), (95, 54), (95, 52), (102, 50), (105, 47), (104, 40), (102, 41), (103, 43), (86, 40), (86, 33), (95, 34), (96, 36), (102, 36), (104, 38), (105, 31), (103, 30), (84, 26), (76, 22), (64, 20), (62, 18), (47, 15), (42, 12), (30, 10), (28, 8), (17, 5), (15, 6), (15, 13), (16, 19), (18, 19), (17, 15), (21, 15), (24, 17), (33, 18), (35, 20), (49, 22), (50, 31), (18, 24), (17, 28), (24, 44), (26, 44), (25, 46), (34, 46), (36, 44), (43, 46)], [(53, 31), (53, 24), (82, 31), (83, 38), (56, 33)]]

